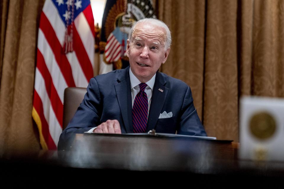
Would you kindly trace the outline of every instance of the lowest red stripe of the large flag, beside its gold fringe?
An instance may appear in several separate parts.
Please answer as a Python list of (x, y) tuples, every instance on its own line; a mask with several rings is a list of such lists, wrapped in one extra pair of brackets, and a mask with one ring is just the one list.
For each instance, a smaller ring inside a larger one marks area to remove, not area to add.
[(48, 146), (49, 150), (56, 150), (57, 147), (54, 144), (53, 139), (50, 136), (49, 133), (49, 127), (48, 127), (48, 123), (43, 115), (43, 105), (41, 102), (41, 98), (38, 96), (38, 93), (34, 90), (34, 95), (33, 95), (33, 107), (35, 108), (35, 110), (38, 113), (38, 116), (41, 119), (41, 129), (42, 129), (42, 135), (43, 138), (46, 142), (46, 145)]

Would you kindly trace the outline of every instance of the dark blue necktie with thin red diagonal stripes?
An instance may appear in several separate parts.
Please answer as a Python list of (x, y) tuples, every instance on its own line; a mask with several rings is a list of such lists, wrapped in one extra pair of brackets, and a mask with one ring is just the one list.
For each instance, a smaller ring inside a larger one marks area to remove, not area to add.
[(132, 123), (134, 133), (145, 133), (148, 117), (148, 97), (144, 91), (146, 83), (139, 84), (140, 91), (135, 97), (132, 108)]

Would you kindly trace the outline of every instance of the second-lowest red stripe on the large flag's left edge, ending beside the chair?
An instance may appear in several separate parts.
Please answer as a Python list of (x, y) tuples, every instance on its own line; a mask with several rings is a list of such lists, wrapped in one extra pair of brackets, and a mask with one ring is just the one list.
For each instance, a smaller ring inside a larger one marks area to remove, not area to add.
[(57, 94), (57, 90), (54, 87), (51, 75), (49, 73), (49, 70), (46, 67), (44, 58), (41, 54), (41, 52), (37, 51), (37, 68), (41, 72), (41, 75), (44, 78), (45, 86), (46, 86), (46, 92), (49, 96), (52, 108), (54, 110), (55, 116), (62, 128), (63, 123), (63, 104)]

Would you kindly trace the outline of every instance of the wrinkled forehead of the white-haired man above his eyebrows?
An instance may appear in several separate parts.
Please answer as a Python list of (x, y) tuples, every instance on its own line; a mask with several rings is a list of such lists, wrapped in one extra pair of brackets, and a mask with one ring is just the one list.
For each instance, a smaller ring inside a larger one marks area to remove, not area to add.
[(160, 43), (166, 41), (166, 31), (163, 27), (149, 23), (138, 23), (132, 34), (133, 40), (158, 40)]

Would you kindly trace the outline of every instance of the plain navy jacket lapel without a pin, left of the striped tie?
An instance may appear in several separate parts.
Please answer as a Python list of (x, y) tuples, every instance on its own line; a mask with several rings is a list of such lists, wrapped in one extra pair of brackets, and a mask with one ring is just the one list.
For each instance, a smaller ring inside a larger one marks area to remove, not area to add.
[(114, 86), (114, 88), (117, 95), (120, 112), (122, 114), (124, 128), (127, 133), (133, 133), (129, 67), (125, 69), (125, 72), (122, 72), (122, 74), (117, 77), (117, 84)]

